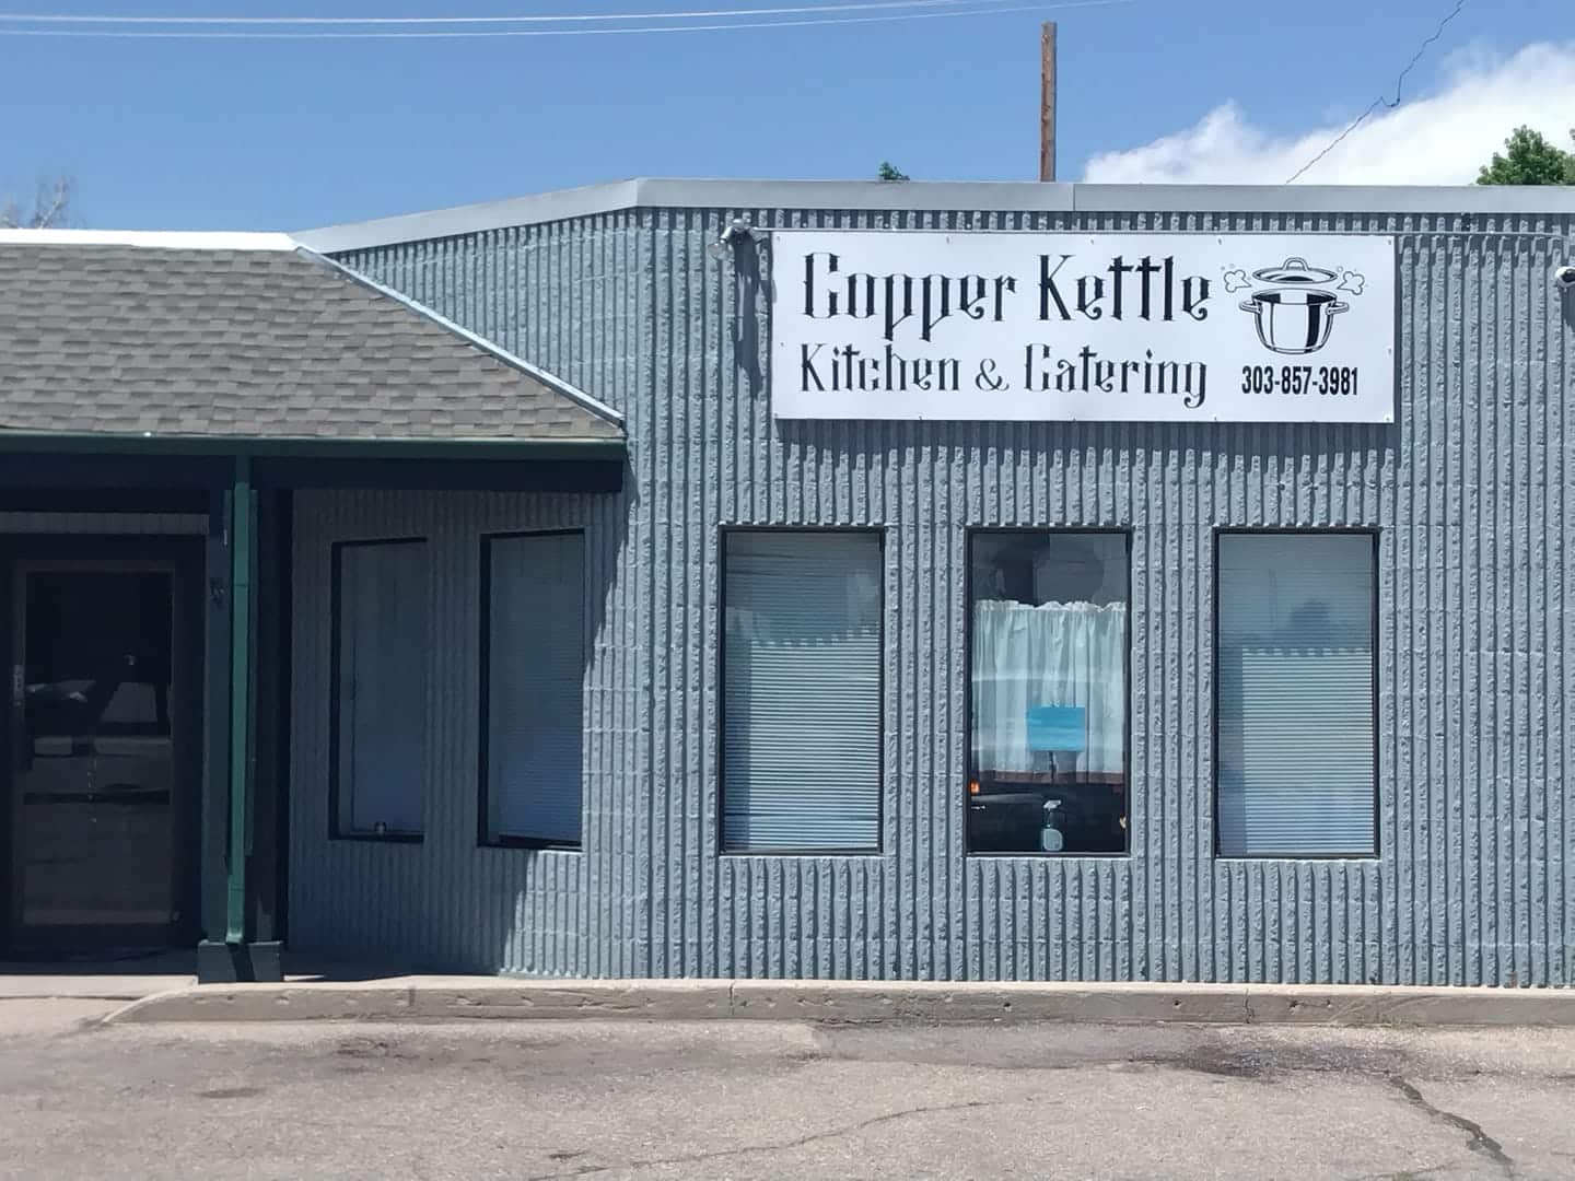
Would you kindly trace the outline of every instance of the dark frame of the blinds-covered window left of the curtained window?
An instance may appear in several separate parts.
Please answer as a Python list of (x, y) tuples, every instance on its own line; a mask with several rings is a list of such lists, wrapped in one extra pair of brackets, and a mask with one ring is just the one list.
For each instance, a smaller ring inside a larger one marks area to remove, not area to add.
[[(717, 709), (712, 715), (712, 727), (715, 734), (713, 757), (717, 761), (717, 806), (712, 822), (717, 828), (713, 841), (717, 857), (885, 857), (888, 768), (887, 734), (890, 729), (887, 721), (887, 665), (890, 663), (890, 653), (887, 650), (887, 526), (884, 524), (721, 524), (717, 528)], [(873, 846), (850, 846), (844, 849), (728, 847), (728, 539), (734, 534), (857, 534), (869, 535), (876, 540), (876, 553), (880, 561), (880, 608), (876, 613), (880, 628), (876, 638), (876, 644), (880, 652), (879, 668), (876, 669), (876, 693), (880, 701), (880, 734), (877, 740), (879, 754), (876, 757), (876, 779), (879, 783), (879, 792), (876, 794), (876, 842)]]

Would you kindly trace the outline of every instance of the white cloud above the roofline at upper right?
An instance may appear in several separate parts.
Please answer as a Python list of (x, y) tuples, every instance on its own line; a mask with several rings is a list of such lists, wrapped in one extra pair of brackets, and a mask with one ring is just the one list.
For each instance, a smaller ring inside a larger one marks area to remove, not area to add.
[[(1436, 93), (1375, 112), (1310, 168), (1301, 184), (1469, 184), (1528, 123), (1569, 146), (1575, 123), (1575, 41), (1526, 46), (1509, 58), (1458, 54)], [(1350, 124), (1269, 135), (1235, 102), (1195, 126), (1088, 161), (1102, 184), (1279, 184)]]

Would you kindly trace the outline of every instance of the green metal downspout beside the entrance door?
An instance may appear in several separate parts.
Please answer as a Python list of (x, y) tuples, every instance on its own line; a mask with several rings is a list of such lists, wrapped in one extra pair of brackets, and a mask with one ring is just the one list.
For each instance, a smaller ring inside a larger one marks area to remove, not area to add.
[(225, 943), (246, 943), (246, 857), (252, 754), (252, 461), (235, 457), (230, 490), (230, 872)]

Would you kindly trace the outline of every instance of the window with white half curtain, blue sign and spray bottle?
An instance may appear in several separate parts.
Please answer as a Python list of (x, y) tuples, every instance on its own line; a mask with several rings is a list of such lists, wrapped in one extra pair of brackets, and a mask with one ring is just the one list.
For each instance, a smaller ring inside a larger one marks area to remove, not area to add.
[(969, 852), (1126, 852), (1128, 539), (969, 539)]

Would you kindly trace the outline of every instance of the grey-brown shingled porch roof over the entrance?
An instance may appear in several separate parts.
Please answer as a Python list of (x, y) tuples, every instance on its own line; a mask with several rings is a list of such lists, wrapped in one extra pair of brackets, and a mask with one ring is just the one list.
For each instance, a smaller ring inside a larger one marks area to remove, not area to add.
[(6, 235), (0, 431), (624, 438), (586, 394), (279, 235)]

